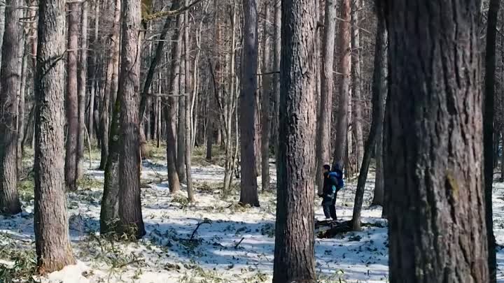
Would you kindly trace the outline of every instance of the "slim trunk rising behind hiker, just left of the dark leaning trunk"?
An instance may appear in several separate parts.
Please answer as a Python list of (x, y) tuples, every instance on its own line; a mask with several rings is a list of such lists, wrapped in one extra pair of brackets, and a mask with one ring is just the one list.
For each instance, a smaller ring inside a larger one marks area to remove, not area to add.
[[(353, 11), (351, 13), (351, 73), (352, 73), (352, 105), (353, 105), (353, 121), (352, 130), (353, 136), (355, 138), (355, 157), (356, 157), (356, 169), (360, 168), (363, 161), (364, 154), (364, 137), (363, 137), (363, 126), (362, 126), (362, 101), (363, 97), (361, 95), (361, 82), (360, 82), (360, 0), (353, 0)], [(374, 150), (374, 148), (372, 149)]]

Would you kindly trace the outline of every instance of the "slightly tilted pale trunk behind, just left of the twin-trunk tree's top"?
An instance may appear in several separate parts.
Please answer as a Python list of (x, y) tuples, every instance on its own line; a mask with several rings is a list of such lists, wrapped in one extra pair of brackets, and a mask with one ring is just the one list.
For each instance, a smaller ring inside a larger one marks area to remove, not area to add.
[(109, 113), (113, 113), (113, 106), (116, 100), (119, 85), (119, 33), (121, 19), (121, 1), (115, 0), (114, 23), (109, 36), (109, 59), (107, 60), (107, 75), (105, 91), (102, 99), (102, 110), (100, 113), (100, 132), (102, 138), (102, 159), (100, 160), (100, 169), (104, 169), (109, 157)]

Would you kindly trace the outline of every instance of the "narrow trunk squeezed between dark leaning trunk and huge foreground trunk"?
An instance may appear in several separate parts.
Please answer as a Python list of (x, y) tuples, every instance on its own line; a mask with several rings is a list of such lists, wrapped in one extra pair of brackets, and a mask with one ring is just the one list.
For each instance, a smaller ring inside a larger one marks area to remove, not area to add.
[[(377, 10), (381, 8), (377, 6)], [(384, 206), (384, 171), (383, 171), (383, 144), (384, 144), (384, 116), (385, 116), (385, 97), (387, 92), (387, 74), (388, 74), (388, 62), (387, 62), (387, 43), (388, 34), (386, 30), (386, 23), (383, 11), (378, 10), (377, 12), (377, 36), (376, 43), (374, 45), (374, 73), (373, 73), (373, 85), (372, 91), (379, 92), (381, 100), (378, 101), (379, 107), (381, 107), (379, 124), (377, 129), (377, 148), (376, 148), (376, 178), (374, 181), (374, 197), (371, 205), (381, 205)]]

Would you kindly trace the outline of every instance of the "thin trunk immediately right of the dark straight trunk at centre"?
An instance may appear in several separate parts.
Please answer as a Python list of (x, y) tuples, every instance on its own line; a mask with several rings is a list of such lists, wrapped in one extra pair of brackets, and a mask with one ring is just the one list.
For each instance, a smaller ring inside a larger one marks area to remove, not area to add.
[[(270, 53), (269, 53), (269, 6), (270, 3), (265, 3), (265, 22), (263, 24), (262, 36), (262, 73), (271, 72)], [(262, 191), (269, 189), (269, 125), (271, 124), (271, 110), (269, 108), (269, 98), (272, 96), (272, 80), (271, 75), (262, 75), (262, 104), (261, 112), (261, 184)]]

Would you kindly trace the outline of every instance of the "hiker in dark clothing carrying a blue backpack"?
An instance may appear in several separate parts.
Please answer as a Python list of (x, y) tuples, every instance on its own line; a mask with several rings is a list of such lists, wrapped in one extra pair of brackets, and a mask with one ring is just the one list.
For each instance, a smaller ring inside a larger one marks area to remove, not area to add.
[(338, 173), (331, 172), (330, 166), (325, 164), (323, 166), (323, 190), (322, 194), (319, 194), (322, 198), (322, 209), (325, 215), (325, 219), (336, 220), (336, 195), (339, 187)]

